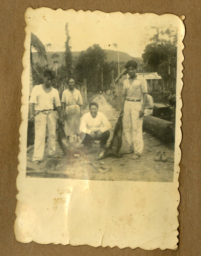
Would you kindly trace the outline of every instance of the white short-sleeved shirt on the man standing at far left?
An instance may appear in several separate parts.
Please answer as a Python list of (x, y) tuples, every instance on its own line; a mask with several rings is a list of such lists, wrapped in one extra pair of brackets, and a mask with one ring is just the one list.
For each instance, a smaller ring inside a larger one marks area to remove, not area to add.
[(57, 89), (52, 87), (52, 90), (46, 93), (42, 88), (42, 84), (33, 88), (29, 102), (34, 103), (35, 110), (38, 111), (53, 110), (54, 103), (56, 108), (61, 106), (59, 92)]

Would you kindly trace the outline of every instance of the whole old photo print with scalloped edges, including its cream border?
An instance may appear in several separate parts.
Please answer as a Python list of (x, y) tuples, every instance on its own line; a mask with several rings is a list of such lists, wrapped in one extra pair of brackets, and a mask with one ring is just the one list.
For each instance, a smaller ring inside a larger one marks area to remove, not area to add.
[(27, 9), (17, 241), (177, 248), (183, 18)]

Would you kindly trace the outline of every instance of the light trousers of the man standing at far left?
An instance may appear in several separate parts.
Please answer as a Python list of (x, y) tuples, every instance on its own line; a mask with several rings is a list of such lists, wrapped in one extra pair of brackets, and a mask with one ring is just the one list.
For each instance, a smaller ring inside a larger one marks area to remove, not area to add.
[(35, 116), (35, 140), (33, 161), (42, 161), (45, 149), (45, 132), (47, 126), (47, 152), (51, 156), (56, 150), (56, 115), (55, 112), (37, 112)]

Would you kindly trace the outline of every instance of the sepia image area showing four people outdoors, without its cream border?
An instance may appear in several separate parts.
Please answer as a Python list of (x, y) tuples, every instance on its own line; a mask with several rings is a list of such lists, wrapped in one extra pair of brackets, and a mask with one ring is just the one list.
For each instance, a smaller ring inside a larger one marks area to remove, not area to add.
[(118, 23), (32, 28), (27, 177), (173, 181), (178, 28)]

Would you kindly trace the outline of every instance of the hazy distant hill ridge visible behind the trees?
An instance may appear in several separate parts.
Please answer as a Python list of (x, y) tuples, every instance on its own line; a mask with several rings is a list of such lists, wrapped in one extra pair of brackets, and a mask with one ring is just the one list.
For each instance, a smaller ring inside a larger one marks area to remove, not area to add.
[[(117, 51), (113, 51), (113, 50), (104, 50), (107, 54), (107, 61), (108, 62), (112, 62), (112, 61), (118, 61), (118, 55), (117, 55)], [(47, 63), (49, 64), (49, 67), (53, 67), (53, 58), (52, 55), (53, 54), (58, 54), (58, 66), (61, 65), (65, 65), (65, 60), (64, 60), (64, 54), (65, 52), (46, 52), (47, 53)], [(72, 52), (72, 58), (76, 59), (79, 57), (80, 52)], [(142, 59), (141, 58), (135, 58), (132, 57), (131, 55), (129, 55), (128, 53), (125, 52), (119, 52), (119, 61), (120, 62), (127, 62), (129, 60), (135, 60), (138, 63), (142, 63)], [(40, 65), (44, 66), (45, 65), (45, 60), (43, 57), (38, 56), (37, 52), (33, 53), (33, 61), (34, 63), (39, 62)]]

